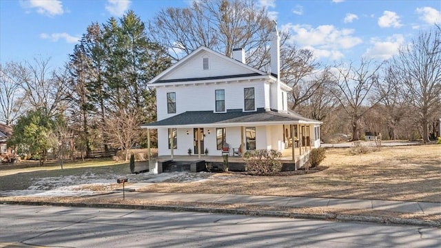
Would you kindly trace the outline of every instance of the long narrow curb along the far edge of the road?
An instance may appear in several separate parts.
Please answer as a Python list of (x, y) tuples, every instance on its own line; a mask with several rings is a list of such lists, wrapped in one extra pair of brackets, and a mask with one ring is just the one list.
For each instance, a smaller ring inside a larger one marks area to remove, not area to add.
[(127, 205), (112, 203), (54, 203), (49, 201), (28, 202), (16, 200), (0, 200), (0, 204), (14, 205), (51, 205), (61, 207), (101, 207), (101, 208), (120, 208), (120, 209), (142, 209), (142, 210), (165, 210), (165, 211), (193, 211), (212, 214), (240, 214), (249, 216), (283, 217), (283, 218), (303, 218), (336, 221), (356, 221), (367, 223), (397, 224), (397, 225), (418, 225), (425, 227), (441, 227), (440, 221), (419, 220), (413, 218), (378, 217), (362, 216), (351, 214), (305, 214), (292, 213), (288, 211), (267, 211), (267, 210), (248, 210), (248, 209), (223, 209), (208, 207), (185, 207), (174, 205)]

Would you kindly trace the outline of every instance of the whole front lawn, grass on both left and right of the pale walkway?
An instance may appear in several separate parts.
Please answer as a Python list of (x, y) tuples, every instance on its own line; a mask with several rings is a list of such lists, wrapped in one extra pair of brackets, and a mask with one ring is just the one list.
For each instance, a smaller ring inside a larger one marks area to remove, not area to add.
[[(208, 174), (209, 180), (165, 180), (145, 192), (254, 194), (382, 200), (416, 200), (441, 203), (441, 145), (382, 147), (380, 151), (352, 155), (351, 148), (329, 148), (319, 169), (285, 176), (247, 176), (239, 173)], [(0, 165), (0, 189), (28, 189), (39, 180), (50, 186), (72, 185), (76, 178), (108, 180), (129, 172), (127, 163), (110, 159), (47, 167)], [(141, 176), (141, 180), (143, 175)], [(152, 176), (152, 175), (150, 175)], [(54, 185), (50, 185), (54, 178)]]

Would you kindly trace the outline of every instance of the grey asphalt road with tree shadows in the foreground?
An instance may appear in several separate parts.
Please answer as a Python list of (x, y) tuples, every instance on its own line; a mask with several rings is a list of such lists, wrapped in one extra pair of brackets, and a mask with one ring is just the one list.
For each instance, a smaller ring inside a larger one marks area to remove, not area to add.
[(87, 207), (0, 205), (0, 247), (441, 247), (441, 229)]

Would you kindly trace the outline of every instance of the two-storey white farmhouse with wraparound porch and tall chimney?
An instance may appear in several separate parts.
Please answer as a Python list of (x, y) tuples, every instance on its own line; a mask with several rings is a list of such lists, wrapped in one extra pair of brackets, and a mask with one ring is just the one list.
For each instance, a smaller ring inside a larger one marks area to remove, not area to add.
[(158, 156), (276, 149), (296, 163), (320, 146), (320, 121), (289, 110), (292, 89), (278, 77), (276, 28), (272, 36), (271, 73), (245, 64), (243, 49), (229, 58), (200, 47), (149, 82), (156, 89), (157, 121), (141, 127), (158, 130)]

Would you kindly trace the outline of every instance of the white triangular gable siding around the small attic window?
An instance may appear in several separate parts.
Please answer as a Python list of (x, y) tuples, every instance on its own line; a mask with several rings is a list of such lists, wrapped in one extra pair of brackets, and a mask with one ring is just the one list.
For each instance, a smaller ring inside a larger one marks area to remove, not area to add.
[[(203, 70), (203, 58), (208, 58), (209, 69)], [(234, 74), (254, 73), (243, 66), (238, 66), (233, 59), (223, 56), (215, 56), (205, 51), (196, 54), (189, 61), (185, 61), (183, 65), (175, 68), (172, 72), (165, 75), (161, 80), (169, 79), (189, 79), (200, 78), (206, 76), (226, 76)]]

